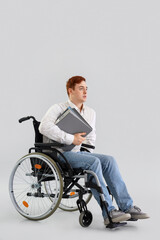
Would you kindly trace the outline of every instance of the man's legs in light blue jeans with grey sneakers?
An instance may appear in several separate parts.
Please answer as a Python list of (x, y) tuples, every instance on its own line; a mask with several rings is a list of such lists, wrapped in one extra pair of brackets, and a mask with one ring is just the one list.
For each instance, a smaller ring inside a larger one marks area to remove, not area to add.
[[(69, 160), (73, 168), (89, 169), (97, 174), (105, 196), (105, 200), (108, 204), (108, 212), (112, 218), (112, 221), (125, 221), (130, 217), (135, 219), (149, 218), (149, 216), (146, 213), (143, 213), (140, 208), (133, 206), (133, 200), (128, 194), (126, 185), (121, 177), (117, 163), (113, 157), (88, 152), (65, 152), (63, 154)], [(103, 177), (105, 178), (113, 196), (115, 197), (117, 205), (122, 211), (126, 212), (126, 214), (123, 215), (122, 212), (116, 212), (116, 209), (112, 205), (106, 184), (103, 181)], [(91, 190), (100, 205), (98, 192), (95, 189)], [(107, 219), (107, 213), (105, 209), (102, 209), (102, 215), (105, 219), (104, 223), (108, 224), (109, 221)]]

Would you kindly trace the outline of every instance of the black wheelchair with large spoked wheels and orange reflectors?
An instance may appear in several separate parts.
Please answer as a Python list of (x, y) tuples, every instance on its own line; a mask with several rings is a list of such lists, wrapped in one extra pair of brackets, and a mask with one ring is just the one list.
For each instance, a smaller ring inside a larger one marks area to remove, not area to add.
[[(56, 141), (43, 143), (43, 136), (38, 130), (40, 122), (35, 117), (23, 117), (19, 122), (29, 119), (33, 120), (35, 144), (16, 163), (9, 179), (9, 193), (16, 210), (30, 220), (48, 218), (58, 207), (64, 211), (79, 210), (80, 225), (88, 227), (93, 217), (87, 204), (92, 197), (91, 188), (94, 188), (99, 193), (101, 208), (105, 208), (108, 214), (107, 202), (97, 175), (90, 170), (73, 169), (63, 153), (57, 150), (57, 147), (66, 145)], [(89, 152), (88, 148), (95, 147), (82, 144), (81, 151)], [(64, 159), (63, 162), (59, 156)], [(126, 224), (113, 223), (109, 214), (108, 218), (110, 223), (107, 228)]]

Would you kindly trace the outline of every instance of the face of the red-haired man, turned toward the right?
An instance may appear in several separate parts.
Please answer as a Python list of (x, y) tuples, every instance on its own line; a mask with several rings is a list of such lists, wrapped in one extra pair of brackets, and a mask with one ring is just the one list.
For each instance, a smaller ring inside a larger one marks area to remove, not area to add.
[(83, 103), (87, 100), (87, 85), (85, 81), (75, 85), (74, 89), (70, 88), (71, 100), (79, 103)]

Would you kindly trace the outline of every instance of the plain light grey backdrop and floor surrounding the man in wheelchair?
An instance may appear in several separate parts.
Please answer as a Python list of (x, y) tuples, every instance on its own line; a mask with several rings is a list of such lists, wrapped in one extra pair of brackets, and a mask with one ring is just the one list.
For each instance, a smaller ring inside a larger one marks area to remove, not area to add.
[[(1, 0), (0, 240), (158, 238), (159, 191), (159, 1)], [(151, 219), (111, 232), (99, 206), (83, 229), (79, 213), (57, 210), (31, 222), (14, 209), (8, 180), (16, 161), (33, 146), (31, 122), (67, 100), (73, 75), (87, 79), (90, 107), (97, 112), (96, 152), (113, 155), (135, 204)], [(44, 233), (44, 236), (42, 236)]]

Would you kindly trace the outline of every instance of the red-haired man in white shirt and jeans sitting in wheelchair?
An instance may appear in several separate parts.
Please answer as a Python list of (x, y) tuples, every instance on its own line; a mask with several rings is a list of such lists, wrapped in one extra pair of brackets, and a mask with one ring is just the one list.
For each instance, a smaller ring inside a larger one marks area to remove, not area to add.
[[(44, 141), (55, 140), (62, 144), (74, 144), (72, 151), (63, 152), (73, 168), (82, 168), (94, 171), (100, 181), (105, 200), (108, 203), (108, 212), (113, 222), (126, 221), (130, 218), (146, 219), (149, 216), (143, 213), (140, 208), (133, 206), (133, 200), (130, 197), (126, 185), (121, 177), (117, 163), (111, 156), (89, 152), (80, 152), (82, 143), (95, 145), (96, 140), (96, 113), (93, 109), (84, 105), (87, 99), (87, 85), (85, 78), (74, 76), (66, 84), (69, 100), (66, 103), (53, 105), (43, 117), (39, 130), (44, 135)], [(54, 123), (58, 116), (68, 107), (75, 108), (83, 118), (93, 128), (92, 132), (84, 137), (85, 133), (76, 133), (74, 135), (62, 131)], [(59, 149), (62, 152), (62, 149)], [(120, 210), (116, 210), (112, 205), (112, 200), (106, 188), (106, 183), (112, 192)], [(100, 205), (99, 194), (95, 189), (92, 193)], [(109, 224), (109, 219), (105, 209), (102, 209), (104, 224)]]

